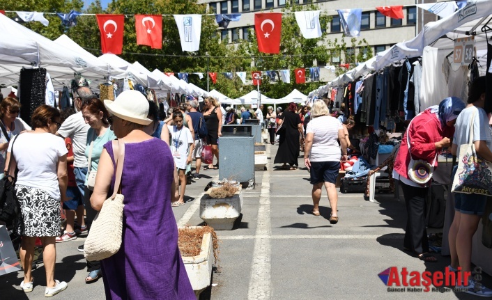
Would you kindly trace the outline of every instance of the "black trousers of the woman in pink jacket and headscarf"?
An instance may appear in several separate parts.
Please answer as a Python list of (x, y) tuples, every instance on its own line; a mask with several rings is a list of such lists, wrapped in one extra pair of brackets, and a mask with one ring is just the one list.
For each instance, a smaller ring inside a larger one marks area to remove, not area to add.
[(426, 230), (425, 197), (429, 188), (410, 187), (400, 182), (406, 204), (406, 229), (403, 246), (416, 254), (429, 252)]

